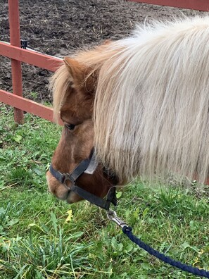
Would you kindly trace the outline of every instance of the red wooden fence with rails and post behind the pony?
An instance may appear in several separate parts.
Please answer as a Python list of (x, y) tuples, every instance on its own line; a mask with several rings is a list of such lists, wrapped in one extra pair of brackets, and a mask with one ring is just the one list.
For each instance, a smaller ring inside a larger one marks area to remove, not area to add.
[[(191, 8), (209, 11), (209, 0), (127, 0), (147, 4)], [(23, 123), (23, 111), (53, 121), (53, 110), (42, 104), (23, 98), (21, 62), (55, 71), (63, 63), (61, 59), (20, 48), (19, 0), (8, 0), (11, 44), (0, 42), (0, 55), (11, 58), (13, 94), (0, 89), (0, 101), (15, 108), (15, 122)]]

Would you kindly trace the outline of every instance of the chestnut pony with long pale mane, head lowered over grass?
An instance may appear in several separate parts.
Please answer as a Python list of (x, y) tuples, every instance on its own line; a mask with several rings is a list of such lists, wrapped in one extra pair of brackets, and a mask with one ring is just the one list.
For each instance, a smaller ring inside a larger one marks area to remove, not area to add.
[[(209, 166), (209, 17), (137, 25), (115, 42), (65, 57), (51, 79), (63, 134), (52, 158), (70, 173), (94, 147), (99, 165), (80, 187), (104, 197), (133, 178), (176, 173), (205, 182)], [(108, 175), (103, 169), (111, 170)], [(47, 173), (49, 190), (81, 198)]]

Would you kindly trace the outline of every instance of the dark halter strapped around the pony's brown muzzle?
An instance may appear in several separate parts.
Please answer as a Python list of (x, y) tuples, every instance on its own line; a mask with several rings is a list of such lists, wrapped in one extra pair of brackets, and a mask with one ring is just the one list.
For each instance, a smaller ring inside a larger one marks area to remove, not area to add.
[(72, 183), (72, 186), (68, 187), (70, 191), (75, 192), (83, 199), (87, 199), (87, 201), (91, 202), (91, 204), (95, 204), (102, 209), (109, 210), (111, 203), (115, 206), (117, 205), (115, 186), (110, 188), (107, 194), (107, 198), (102, 199), (101, 197), (96, 197), (94, 194), (91, 194), (76, 185), (76, 180), (80, 177), (80, 175), (82, 175), (83, 173), (93, 174), (97, 166), (98, 163), (96, 162), (95, 154), (92, 150), (89, 158), (81, 161), (79, 165), (72, 171), (72, 173), (60, 173), (59, 171), (56, 171), (52, 165), (50, 165), (49, 171), (51, 172), (53, 177), (61, 182), (61, 184), (65, 185), (65, 187), (68, 187), (67, 182), (69, 180)]

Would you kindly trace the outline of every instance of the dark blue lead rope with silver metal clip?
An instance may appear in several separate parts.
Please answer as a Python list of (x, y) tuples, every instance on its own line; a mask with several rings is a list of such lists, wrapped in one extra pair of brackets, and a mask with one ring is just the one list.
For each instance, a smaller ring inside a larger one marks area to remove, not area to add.
[(144, 243), (141, 241), (139, 238), (137, 238), (135, 235), (132, 234), (132, 228), (128, 227), (124, 221), (122, 221), (120, 218), (118, 218), (117, 214), (115, 211), (108, 211), (108, 218), (111, 221), (114, 221), (120, 227), (122, 228), (122, 232), (129, 237), (129, 240), (132, 240), (132, 242), (136, 243), (144, 249), (146, 252), (151, 254), (152, 256), (155, 256), (156, 258), (160, 259), (161, 261), (164, 261), (165, 263), (170, 264), (170, 266), (175, 266), (182, 271), (187, 271), (189, 273), (192, 273), (194, 275), (199, 275), (205, 278), (209, 278), (209, 271), (205, 271), (204, 269), (199, 269), (199, 268), (194, 268), (193, 266), (187, 266), (184, 263), (181, 263), (180, 261), (175, 261), (171, 259), (169, 256), (165, 256), (164, 254), (156, 251), (152, 247), (150, 247), (148, 244)]

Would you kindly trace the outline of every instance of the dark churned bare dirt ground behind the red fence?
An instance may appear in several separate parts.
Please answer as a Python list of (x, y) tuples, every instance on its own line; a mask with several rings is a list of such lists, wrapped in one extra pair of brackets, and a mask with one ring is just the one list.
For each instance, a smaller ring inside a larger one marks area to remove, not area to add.
[[(125, 0), (20, 0), (20, 32), (31, 49), (63, 57), (104, 39), (126, 37), (144, 20), (164, 20), (182, 13), (198, 12)], [(9, 42), (8, 0), (0, 3), (0, 30), (0, 40)], [(10, 60), (0, 59), (0, 88), (12, 92)], [(50, 75), (47, 70), (23, 64), (24, 97), (51, 102)]]

